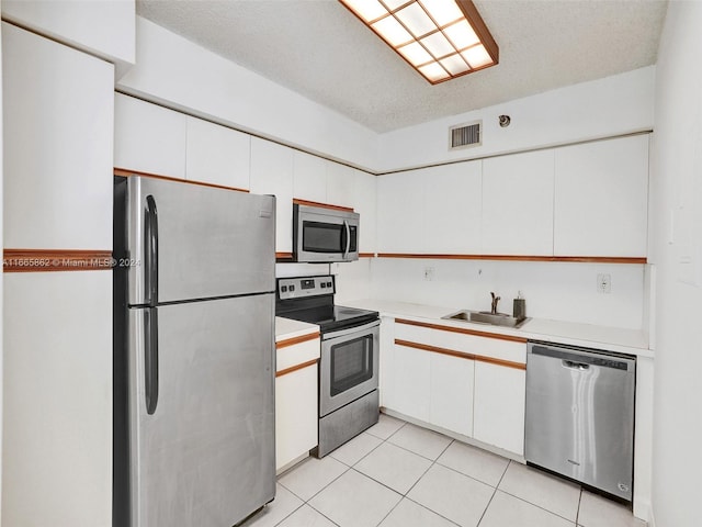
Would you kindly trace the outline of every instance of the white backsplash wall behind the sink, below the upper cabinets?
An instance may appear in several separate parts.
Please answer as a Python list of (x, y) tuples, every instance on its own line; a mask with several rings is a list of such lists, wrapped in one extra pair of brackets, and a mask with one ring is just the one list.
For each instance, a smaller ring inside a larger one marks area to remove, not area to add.
[[(430, 260), (372, 258), (332, 266), (339, 276), (337, 302), (363, 298), (511, 313), (518, 292), (526, 315), (566, 322), (641, 329), (644, 324), (644, 265)], [(431, 268), (431, 280), (426, 280)], [(611, 292), (597, 291), (597, 277), (610, 274)]]

